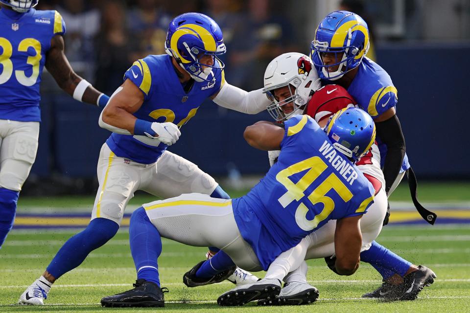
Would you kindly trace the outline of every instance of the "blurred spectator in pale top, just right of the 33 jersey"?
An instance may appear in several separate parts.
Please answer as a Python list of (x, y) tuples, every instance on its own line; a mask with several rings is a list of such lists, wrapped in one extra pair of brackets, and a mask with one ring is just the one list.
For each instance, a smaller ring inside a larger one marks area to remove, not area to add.
[(84, 0), (64, 0), (57, 11), (64, 18), (67, 34), (64, 36), (67, 58), (75, 71), (85, 79), (93, 80), (93, 39), (100, 26), (100, 12)]

